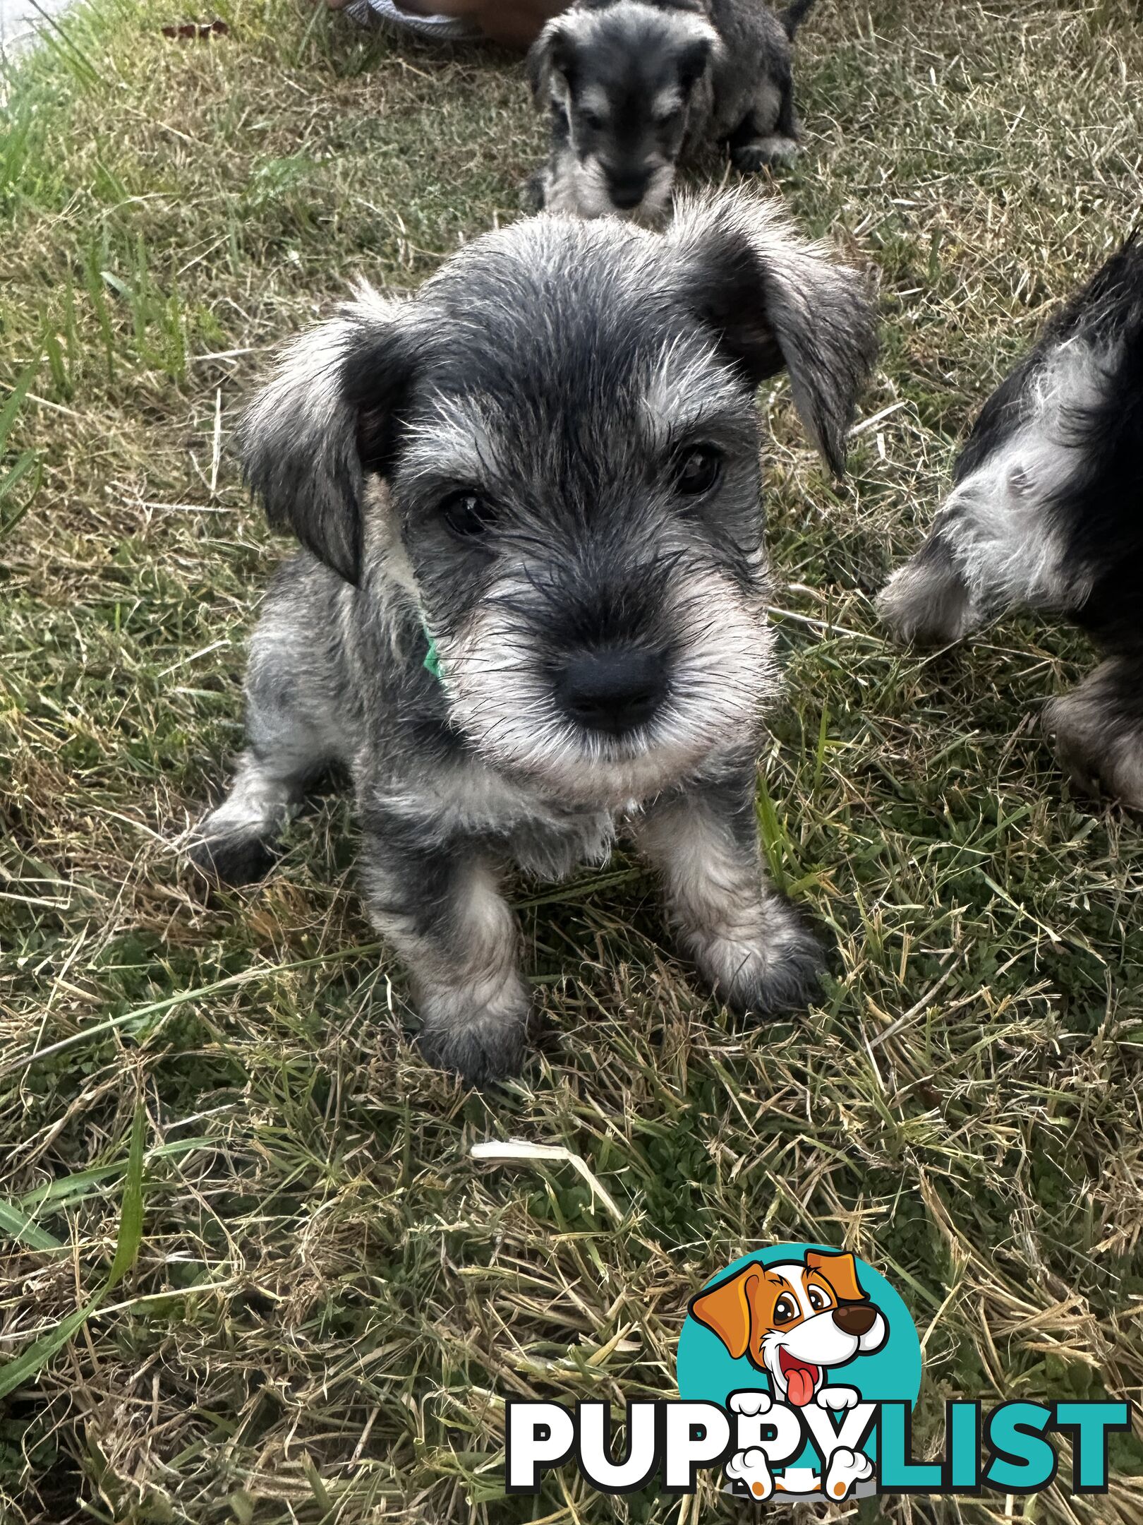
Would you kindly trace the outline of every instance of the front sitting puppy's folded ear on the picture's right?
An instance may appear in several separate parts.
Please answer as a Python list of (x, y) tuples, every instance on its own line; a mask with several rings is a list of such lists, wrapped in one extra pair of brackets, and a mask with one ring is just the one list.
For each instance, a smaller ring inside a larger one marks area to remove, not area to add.
[(876, 314), (856, 270), (800, 238), (768, 201), (683, 203), (668, 232), (684, 299), (751, 386), (785, 366), (802, 422), (840, 476), (858, 390), (876, 357)]

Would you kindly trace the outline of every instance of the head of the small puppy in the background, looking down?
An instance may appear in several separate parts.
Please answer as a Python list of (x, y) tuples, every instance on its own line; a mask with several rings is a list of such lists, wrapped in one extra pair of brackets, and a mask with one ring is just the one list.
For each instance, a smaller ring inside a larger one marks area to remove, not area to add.
[(692, 99), (718, 35), (696, 12), (619, 0), (556, 17), (533, 44), (538, 98), (567, 137), (570, 185), (556, 204), (581, 217), (652, 221), (669, 203)]

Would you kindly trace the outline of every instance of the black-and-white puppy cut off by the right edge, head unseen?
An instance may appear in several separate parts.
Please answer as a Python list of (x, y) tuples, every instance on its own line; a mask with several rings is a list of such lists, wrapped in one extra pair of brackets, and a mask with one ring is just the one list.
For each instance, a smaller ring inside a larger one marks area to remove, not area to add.
[(992, 393), (928, 540), (881, 616), (959, 640), (1004, 608), (1056, 610), (1106, 660), (1045, 723), (1073, 781), (1143, 808), (1143, 246), (1114, 255)]

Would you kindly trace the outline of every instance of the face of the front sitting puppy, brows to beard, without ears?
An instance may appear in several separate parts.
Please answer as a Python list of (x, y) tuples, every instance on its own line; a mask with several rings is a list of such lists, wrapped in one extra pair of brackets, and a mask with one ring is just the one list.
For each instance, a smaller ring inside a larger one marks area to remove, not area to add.
[(597, 296), (550, 314), (539, 364), (515, 281), (483, 332), (442, 325), (392, 496), (456, 723), (501, 770), (620, 804), (748, 734), (773, 682), (750, 393), (692, 323)]

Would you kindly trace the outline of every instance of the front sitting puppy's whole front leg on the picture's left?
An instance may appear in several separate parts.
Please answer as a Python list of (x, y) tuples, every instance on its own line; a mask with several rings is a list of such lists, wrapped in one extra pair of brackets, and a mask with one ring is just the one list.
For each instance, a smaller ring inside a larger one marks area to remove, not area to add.
[(408, 967), (421, 1049), (472, 1086), (511, 1075), (530, 1005), (515, 917), (472, 843), (410, 839), (407, 824), (373, 817), (361, 869), (370, 918)]

